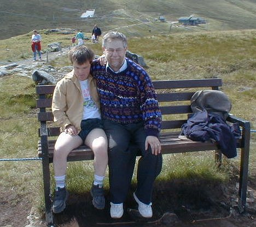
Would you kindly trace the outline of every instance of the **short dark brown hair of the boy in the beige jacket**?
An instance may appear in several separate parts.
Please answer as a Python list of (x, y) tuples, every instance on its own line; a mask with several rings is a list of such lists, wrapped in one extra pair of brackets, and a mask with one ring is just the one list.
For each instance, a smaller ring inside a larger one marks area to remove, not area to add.
[(91, 63), (94, 59), (94, 52), (87, 46), (78, 46), (68, 51), (68, 57), (72, 64), (74, 62), (84, 64), (87, 61)]

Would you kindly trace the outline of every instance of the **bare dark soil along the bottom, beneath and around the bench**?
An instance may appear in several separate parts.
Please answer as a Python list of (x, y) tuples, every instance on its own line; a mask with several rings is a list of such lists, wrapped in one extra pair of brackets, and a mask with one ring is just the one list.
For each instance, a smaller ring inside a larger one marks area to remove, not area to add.
[[(106, 192), (106, 208), (96, 210), (91, 204), (90, 193), (71, 194), (67, 207), (61, 214), (55, 214), (55, 226), (174, 226), (174, 227), (255, 227), (256, 206), (247, 212), (238, 213), (235, 202), (237, 189), (235, 181), (228, 186), (222, 184), (191, 184), (185, 182), (161, 182), (153, 194), (153, 217), (143, 219), (135, 210), (136, 202), (132, 192), (127, 196), (124, 216), (112, 219), (109, 215), (109, 196)], [(250, 184), (256, 198), (254, 183)], [(0, 189), (1, 190), (1, 189)], [(0, 226), (46, 226), (44, 217), (33, 213), (32, 202), (20, 198), (13, 192), (0, 192)], [(233, 199), (234, 200), (234, 199)], [(251, 204), (252, 205), (252, 204)], [(132, 210), (130, 210), (132, 209)], [(27, 218), (30, 216), (29, 218)]]

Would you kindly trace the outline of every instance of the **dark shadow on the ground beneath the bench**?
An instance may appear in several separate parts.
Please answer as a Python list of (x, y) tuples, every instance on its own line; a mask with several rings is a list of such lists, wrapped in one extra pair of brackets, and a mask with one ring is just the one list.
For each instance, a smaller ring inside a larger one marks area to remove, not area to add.
[[(72, 226), (67, 223), (75, 220), (79, 226), (154, 226), (161, 225), (163, 215), (176, 214), (176, 219), (167, 220), (172, 226), (186, 226), (195, 220), (226, 217), (230, 212), (230, 194), (223, 182), (210, 182), (194, 179), (194, 182), (176, 179), (156, 181), (153, 192), (153, 217), (142, 218), (138, 215), (137, 204), (132, 197), (135, 185), (124, 203), (124, 215), (120, 219), (110, 217), (109, 192), (106, 190), (106, 206), (97, 210), (92, 206), (90, 192), (71, 194), (65, 211), (54, 214), (56, 226)], [(231, 192), (230, 193), (234, 193)], [(166, 221), (166, 220), (165, 220)], [(166, 224), (166, 223), (164, 223)]]

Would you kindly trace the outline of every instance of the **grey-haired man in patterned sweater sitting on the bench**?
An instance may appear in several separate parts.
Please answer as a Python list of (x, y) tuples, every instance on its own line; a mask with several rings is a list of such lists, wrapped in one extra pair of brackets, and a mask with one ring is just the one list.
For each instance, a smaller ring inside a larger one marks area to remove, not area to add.
[(146, 71), (125, 57), (127, 40), (124, 34), (109, 32), (102, 40), (107, 64), (92, 62), (100, 96), (101, 116), (109, 143), (110, 216), (123, 216), (123, 202), (131, 184), (139, 147), (137, 189), (133, 198), (143, 217), (152, 217), (152, 192), (162, 167), (158, 135), (161, 112), (152, 81)]

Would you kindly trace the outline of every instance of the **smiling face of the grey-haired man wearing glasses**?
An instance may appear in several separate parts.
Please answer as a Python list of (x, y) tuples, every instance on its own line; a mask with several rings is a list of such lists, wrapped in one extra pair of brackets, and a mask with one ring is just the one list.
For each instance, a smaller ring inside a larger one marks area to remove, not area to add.
[(106, 47), (103, 47), (104, 55), (108, 61), (109, 66), (118, 71), (124, 63), (126, 48), (124, 48), (123, 41), (109, 40)]

